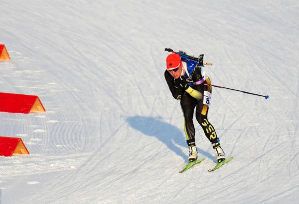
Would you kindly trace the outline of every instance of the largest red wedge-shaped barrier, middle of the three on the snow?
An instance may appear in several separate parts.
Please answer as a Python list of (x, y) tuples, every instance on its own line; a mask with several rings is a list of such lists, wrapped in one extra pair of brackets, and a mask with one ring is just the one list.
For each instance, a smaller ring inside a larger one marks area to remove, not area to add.
[(34, 111), (46, 111), (37, 96), (0, 92), (0, 112), (28, 114)]

